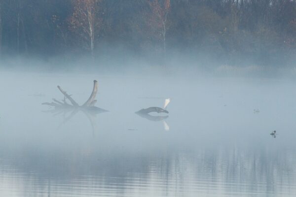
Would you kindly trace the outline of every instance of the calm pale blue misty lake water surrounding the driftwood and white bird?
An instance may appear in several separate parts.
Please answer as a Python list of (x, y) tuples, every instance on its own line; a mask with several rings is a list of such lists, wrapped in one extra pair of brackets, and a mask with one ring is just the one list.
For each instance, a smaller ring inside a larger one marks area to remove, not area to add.
[[(94, 79), (109, 112), (41, 105)], [(293, 80), (1, 72), (0, 196), (295, 197), (295, 118)]]

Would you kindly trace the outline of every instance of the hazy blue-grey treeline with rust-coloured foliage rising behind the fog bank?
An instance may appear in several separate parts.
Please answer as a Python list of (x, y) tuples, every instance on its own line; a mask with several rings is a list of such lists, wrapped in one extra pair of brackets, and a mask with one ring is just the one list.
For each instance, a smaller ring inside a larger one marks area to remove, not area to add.
[(112, 47), (155, 60), (182, 52), (288, 64), (296, 0), (0, 0), (1, 57), (98, 58)]

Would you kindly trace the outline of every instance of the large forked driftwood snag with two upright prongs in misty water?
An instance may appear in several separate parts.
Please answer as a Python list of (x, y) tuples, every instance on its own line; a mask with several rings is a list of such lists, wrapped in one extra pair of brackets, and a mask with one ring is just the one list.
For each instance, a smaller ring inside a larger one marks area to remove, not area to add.
[[(49, 105), (55, 107), (56, 110), (82, 110), (87, 111), (91, 114), (98, 114), (106, 112), (107, 110), (94, 106), (97, 102), (96, 96), (98, 93), (98, 81), (94, 80), (94, 86), (90, 97), (86, 100), (83, 105), (79, 105), (71, 95), (67, 94), (60, 86), (58, 86), (60, 92), (64, 95), (64, 99), (59, 101), (57, 99), (52, 99), (53, 102), (43, 102), (43, 105)], [(71, 102), (68, 103), (67, 99)]]

